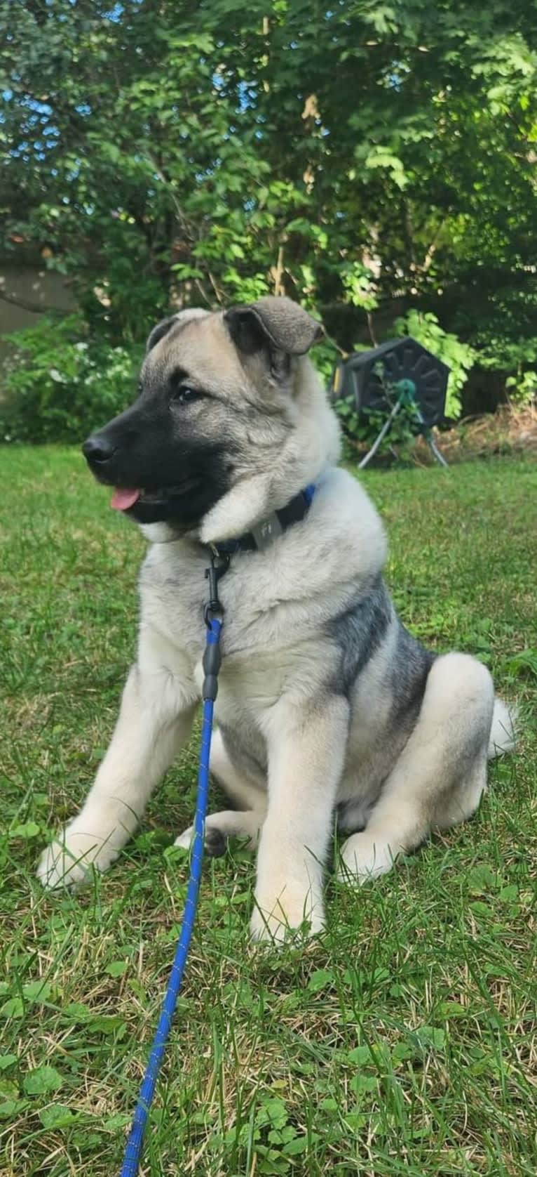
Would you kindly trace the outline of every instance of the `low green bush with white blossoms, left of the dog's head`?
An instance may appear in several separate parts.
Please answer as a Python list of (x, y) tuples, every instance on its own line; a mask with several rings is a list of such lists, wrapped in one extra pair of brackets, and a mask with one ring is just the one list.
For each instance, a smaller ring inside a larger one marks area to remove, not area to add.
[(141, 350), (87, 338), (78, 315), (43, 318), (6, 335), (0, 378), (0, 440), (74, 441), (133, 400)]

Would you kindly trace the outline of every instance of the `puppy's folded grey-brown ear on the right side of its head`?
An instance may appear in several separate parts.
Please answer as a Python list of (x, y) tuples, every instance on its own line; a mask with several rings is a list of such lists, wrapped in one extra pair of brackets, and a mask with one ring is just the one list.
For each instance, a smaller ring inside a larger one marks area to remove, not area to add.
[(304, 355), (323, 333), (322, 325), (290, 298), (270, 295), (224, 312), (234, 344), (251, 353), (267, 346), (286, 355)]

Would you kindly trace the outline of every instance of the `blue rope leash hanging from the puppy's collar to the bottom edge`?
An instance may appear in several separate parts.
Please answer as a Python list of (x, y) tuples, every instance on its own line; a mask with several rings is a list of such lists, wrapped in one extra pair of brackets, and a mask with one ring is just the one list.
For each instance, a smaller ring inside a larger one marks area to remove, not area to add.
[[(217, 596), (219, 577), (223, 574), (229, 561), (224, 566), (215, 565), (214, 557), (212, 567), (207, 570), (209, 577), (210, 600), (206, 609), (207, 621), (207, 645), (203, 654), (203, 670), (206, 678), (203, 681), (203, 718), (201, 729), (200, 769), (197, 773), (197, 797), (196, 813), (194, 818), (194, 840), (190, 856), (190, 878), (188, 880), (187, 898), (181, 924), (181, 935), (175, 950), (174, 963), (169, 976), (168, 989), (166, 991), (159, 1025), (153, 1039), (149, 1062), (147, 1064), (143, 1082), (134, 1112), (133, 1126), (130, 1129), (127, 1148), (123, 1153), (120, 1177), (136, 1177), (140, 1156), (142, 1151), (143, 1133), (146, 1131), (147, 1117), (155, 1093), (156, 1079), (159, 1077), (160, 1064), (168, 1040), (172, 1018), (177, 1004), (177, 997), (182, 985), (184, 964), (188, 949), (190, 946), (194, 920), (196, 918), (197, 898), (200, 895), (201, 865), (203, 862), (203, 837), (207, 813), (207, 802), (209, 798), (209, 753), (210, 738), (213, 734), (213, 711), (216, 699), (217, 676), (220, 670), (220, 632), (222, 629), (222, 606)], [(220, 617), (214, 617), (215, 612)]]

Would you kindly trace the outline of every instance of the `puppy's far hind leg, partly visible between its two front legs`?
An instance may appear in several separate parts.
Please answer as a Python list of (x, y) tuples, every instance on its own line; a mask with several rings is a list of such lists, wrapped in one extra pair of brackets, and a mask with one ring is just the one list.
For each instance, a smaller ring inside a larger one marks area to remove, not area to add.
[[(267, 814), (267, 790), (255, 784), (244, 771), (239, 771), (233, 764), (220, 730), (213, 736), (209, 766), (237, 809), (210, 813), (206, 819), (207, 852), (213, 857), (223, 855), (228, 838), (247, 838), (246, 849), (255, 850)], [(188, 850), (193, 834), (194, 826), (190, 825), (176, 838), (175, 845)]]

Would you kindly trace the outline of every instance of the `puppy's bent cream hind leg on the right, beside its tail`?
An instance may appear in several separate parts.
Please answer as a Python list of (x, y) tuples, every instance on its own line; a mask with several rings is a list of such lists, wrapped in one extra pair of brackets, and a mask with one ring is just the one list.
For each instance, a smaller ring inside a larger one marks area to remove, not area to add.
[(360, 883), (389, 871), (431, 829), (469, 818), (486, 787), (494, 709), (489, 671), (468, 654), (436, 659), (416, 726), (365, 830), (343, 844), (338, 877)]

